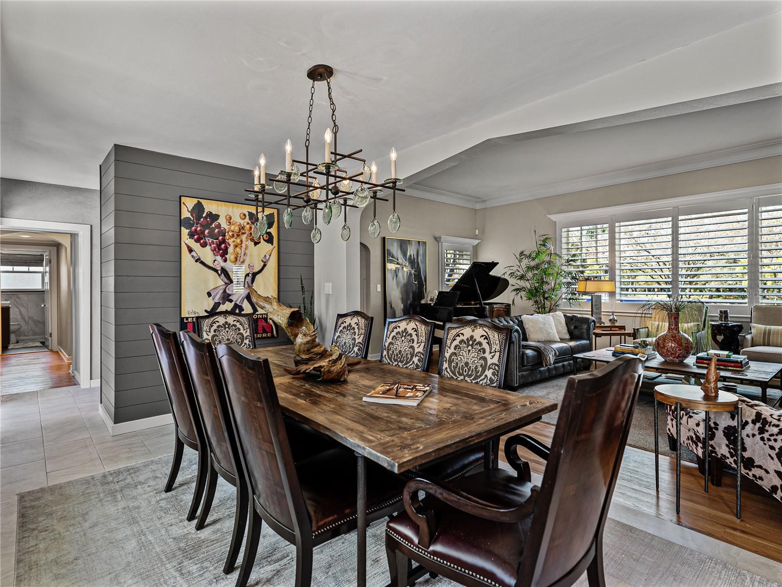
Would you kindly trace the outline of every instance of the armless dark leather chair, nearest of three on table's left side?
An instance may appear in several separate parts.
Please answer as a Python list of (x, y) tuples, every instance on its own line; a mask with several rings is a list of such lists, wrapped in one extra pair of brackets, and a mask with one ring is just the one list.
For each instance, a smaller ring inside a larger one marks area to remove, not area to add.
[[(296, 463), (267, 359), (235, 344), (217, 347), (228, 409), (251, 496), (249, 533), (236, 585), (247, 584), (262, 520), (296, 545), (296, 587), (312, 581), (318, 546), (357, 527), (357, 467), (353, 453), (330, 448)], [(404, 480), (368, 463), (367, 520), (401, 510)]]

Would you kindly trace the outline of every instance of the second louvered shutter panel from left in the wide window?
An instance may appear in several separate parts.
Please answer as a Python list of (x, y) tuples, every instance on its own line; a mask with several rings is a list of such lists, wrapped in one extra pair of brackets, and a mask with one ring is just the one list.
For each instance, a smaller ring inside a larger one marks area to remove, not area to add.
[(670, 216), (616, 222), (616, 297), (662, 300), (671, 295), (673, 220)]

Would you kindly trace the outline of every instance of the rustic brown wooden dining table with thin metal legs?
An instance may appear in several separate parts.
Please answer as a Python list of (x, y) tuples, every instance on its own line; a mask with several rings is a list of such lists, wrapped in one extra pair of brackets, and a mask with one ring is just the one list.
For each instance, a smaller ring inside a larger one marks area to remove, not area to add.
[[(350, 369), (346, 381), (325, 383), (285, 373), (283, 367), (293, 365), (292, 345), (252, 352), (268, 359), (283, 412), (356, 455), (359, 587), (366, 585), (367, 576), (366, 459), (394, 473), (404, 473), (482, 444), (489, 457), (484, 466), (498, 466), (493, 448), (500, 436), (558, 407), (545, 398), (366, 359)], [(432, 384), (432, 391), (417, 406), (362, 400), (378, 385), (392, 382)]]

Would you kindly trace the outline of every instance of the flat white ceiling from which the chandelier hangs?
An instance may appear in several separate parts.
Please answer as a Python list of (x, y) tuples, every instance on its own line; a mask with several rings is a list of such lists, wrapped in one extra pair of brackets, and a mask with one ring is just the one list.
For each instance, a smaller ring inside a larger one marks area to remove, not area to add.
[[(2, 2), (3, 177), (96, 188), (113, 143), (270, 169), (303, 153), (314, 63), (339, 148), (418, 145), (779, 2)], [(313, 139), (328, 124), (319, 87)], [(382, 158), (382, 160), (381, 160)], [(400, 174), (404, 176), (404, 160)], [(381, 171), (383, 175), (383, 171)]]

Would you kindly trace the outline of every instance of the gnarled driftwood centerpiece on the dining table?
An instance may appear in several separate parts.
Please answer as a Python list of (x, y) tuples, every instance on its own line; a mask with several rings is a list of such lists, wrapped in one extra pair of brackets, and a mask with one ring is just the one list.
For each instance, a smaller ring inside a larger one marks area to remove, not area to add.
[(335, 344), (325, 348), (317, 342), (317, 330), (299, 308), (289, 308), (274, 296), (262, 296), (252, 286), (249, 295), (292, 340), (295, 367), (285, 367), (286, 373), (317, 376), (321, 381), (344, 381), (348, 366), (361, 362), (346, 359)]

